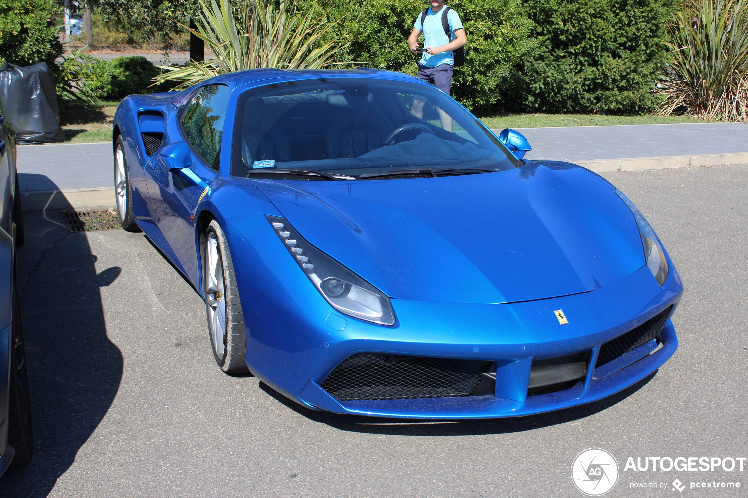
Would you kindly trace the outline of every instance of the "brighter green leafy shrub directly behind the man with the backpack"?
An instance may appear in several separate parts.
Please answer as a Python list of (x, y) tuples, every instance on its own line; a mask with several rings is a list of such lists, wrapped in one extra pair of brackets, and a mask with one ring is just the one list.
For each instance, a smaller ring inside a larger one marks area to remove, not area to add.
[[(301, 10), (316, 3), (341, 19), (331, 38), (348, 43), (336, 60), (352, 65), (390, 69), (415, 75), (419, 55), (408, 49), (408, 35), (422, 0), (305, 0)], [(538, 43), (530, 37), (532, 22), (521, 13), (519, 0), (453, 0), (468, 34), (465, 66), (455, 69), (452, 93), (468, 108), (492, 108), (512, 69), (533, 57)], [(423, 40), (423, 39), (422, 39)], [(501, 105), (500, 103), (498, 105)]]

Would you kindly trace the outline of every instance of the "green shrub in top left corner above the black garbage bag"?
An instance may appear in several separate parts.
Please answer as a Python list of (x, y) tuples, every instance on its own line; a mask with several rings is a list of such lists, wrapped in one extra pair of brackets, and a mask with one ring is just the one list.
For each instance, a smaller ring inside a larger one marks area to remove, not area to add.
[(64, 49), (47, 18), (60, 7), (54, 0), (0, 0), (0, 63), (31, 66), (46, 62), (53, 70)]

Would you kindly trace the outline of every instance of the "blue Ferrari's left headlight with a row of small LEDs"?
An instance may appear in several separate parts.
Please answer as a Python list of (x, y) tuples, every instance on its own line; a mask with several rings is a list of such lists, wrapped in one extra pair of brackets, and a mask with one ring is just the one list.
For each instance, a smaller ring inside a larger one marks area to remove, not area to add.
[(340, 313), (381, 325), (394, 325), (390, 298), (369, 282), (312, 246), (285, 218), (266, 215), (301, 270)]

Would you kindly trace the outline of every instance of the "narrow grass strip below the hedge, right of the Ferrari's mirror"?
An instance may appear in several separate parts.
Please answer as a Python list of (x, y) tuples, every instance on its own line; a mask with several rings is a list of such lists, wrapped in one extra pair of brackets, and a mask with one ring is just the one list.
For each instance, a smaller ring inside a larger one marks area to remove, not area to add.
[(476, 111), (491, 129), (555, 128), (557, 126), (669, 125), (676, 122), (703, 122), (688, 116), (604, 116), (601, 114), (508, 114)]

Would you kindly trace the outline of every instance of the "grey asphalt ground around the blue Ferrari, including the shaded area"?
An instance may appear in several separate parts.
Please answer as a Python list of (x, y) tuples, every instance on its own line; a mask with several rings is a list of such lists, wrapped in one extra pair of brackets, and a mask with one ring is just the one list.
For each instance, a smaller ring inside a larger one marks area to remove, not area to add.
[[(0, 479), (0, 494), (581, 497), (571, 462), (599, 447), (621, 468), (607, 496), (746, 496), (748, 465), (624, 465), (748, 456), (748, 166), (605, 176), (649, 218), (683, 278), (680, 347), (610, 399), (514, 420), (309, 411), (216, 367), (203, 302), (142, 234), (70, 234), (60, 214), (26, 214), (19, 287), (35, 455)], [(681, 494), (668, 484), (723, 476), (741, 488)], [(668, 486), (631, 488), (657, 481)]]

